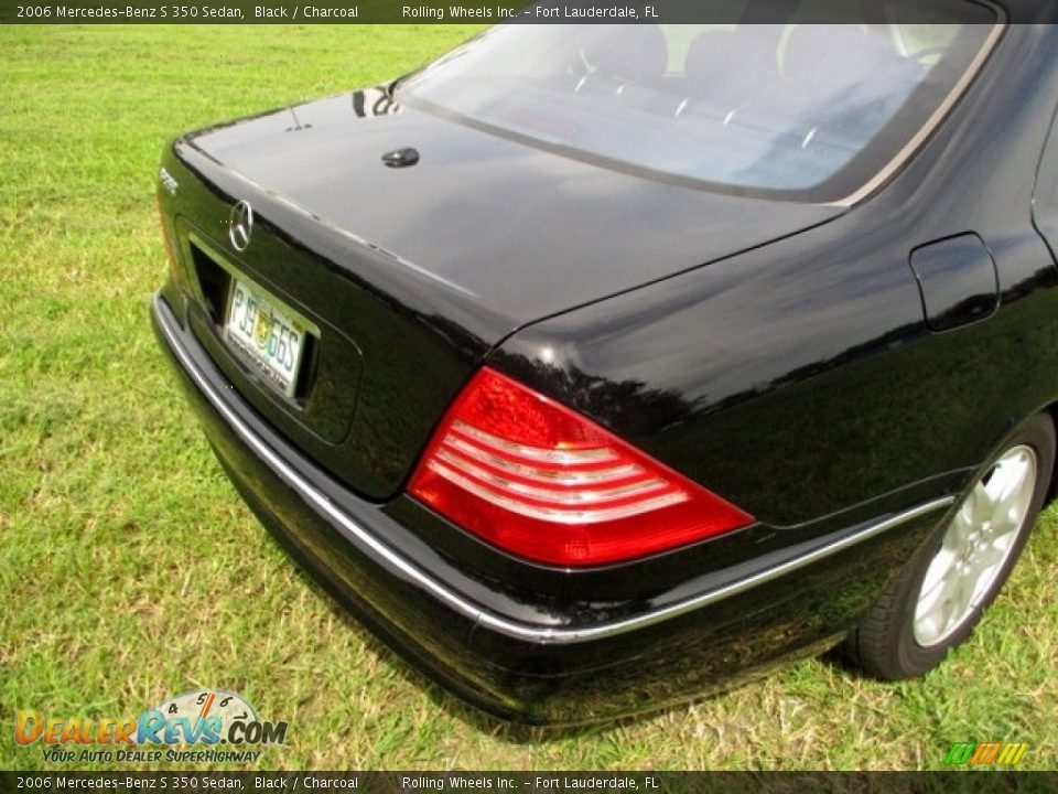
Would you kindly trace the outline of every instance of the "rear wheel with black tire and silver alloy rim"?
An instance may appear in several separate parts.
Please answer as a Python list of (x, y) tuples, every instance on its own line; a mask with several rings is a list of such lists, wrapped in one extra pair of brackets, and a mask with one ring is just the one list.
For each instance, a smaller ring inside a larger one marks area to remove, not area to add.
[(849, 635), (846, 657), (884, 680), (919, 676), (964, 642), (995, 600), (1050, 484), (1055, 426), (1008, 439)]

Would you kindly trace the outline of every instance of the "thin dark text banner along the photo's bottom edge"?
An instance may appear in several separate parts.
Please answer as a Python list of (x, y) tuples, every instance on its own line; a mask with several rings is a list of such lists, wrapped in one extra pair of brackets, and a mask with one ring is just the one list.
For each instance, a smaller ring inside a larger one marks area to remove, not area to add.
[(1058, 772), (0, 772), (2, 792), (1058, 792)]

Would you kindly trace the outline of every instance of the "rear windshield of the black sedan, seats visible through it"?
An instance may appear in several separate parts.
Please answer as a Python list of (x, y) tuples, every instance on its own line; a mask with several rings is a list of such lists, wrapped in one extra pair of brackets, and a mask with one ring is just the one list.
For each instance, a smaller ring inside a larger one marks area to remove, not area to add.
[(873, 3), (860, 24), (802, 23), (818, 4), (788, 2), (771, 24), (494, 28), (399, 97), (643, 175), (844, 201), (954, 100), (997, 19), (967, 0), (917, 0)]

